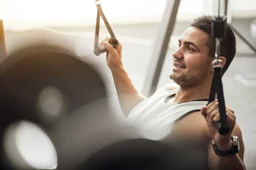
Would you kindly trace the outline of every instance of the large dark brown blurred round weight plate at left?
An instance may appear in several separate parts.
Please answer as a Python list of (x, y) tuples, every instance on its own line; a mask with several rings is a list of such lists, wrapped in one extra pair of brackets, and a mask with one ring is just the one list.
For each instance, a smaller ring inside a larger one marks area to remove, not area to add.
[(92, 102), (108, 112), (105, 84), (96, 63), (76, 56), (68, 37), (43, 30), (14, 34), (0, 63), (0, 167), (56, 169), (50, 130)]

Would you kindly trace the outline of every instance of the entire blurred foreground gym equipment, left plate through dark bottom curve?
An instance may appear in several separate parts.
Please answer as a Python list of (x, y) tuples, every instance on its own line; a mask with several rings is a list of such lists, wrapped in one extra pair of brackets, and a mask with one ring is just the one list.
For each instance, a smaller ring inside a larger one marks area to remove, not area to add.
[(104, 66), (94, 56), (77, 56), (79, 38), (45, 30), (14, 34), (0, 63), (1, 169), (191, 167), (183, 164), (187, 152), (160, 142), (168, 134), (121, 119), (119, 103), (109, 98), (105, 59)]

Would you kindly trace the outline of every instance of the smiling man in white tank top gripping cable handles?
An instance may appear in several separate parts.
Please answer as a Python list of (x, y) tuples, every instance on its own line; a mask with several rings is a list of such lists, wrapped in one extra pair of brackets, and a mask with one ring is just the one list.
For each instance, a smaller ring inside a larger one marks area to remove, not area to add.
[[(222, 74), (227, 71), (236, 54), (235, 35), (228, 24), (226, 28), (227, 36), (221, 43)], [(177, 139), (179, 142), (176, 141), (176, 144), (182, 143), (183, 147), (186, 142), (189, 147), (197, 144), (201, 152), (194, 152), (191, 158), (201, 156), (201, 159), (193, 158), (198, 161), (195, 164), (201, 164), (201, 169), (245, 169), (244, 143), (234, 111), (226, 107), (230, 133), (222, 136), (214, 124), (220, 120), (218, 100), (206, 106), (214, 75), (211, 62), (215, 59), (210, 16), (196, 18), (178, 40), (179, 48), (172, 54), (173, 71), (170, 74), (170, 79), (177, 85), (165, 85), (148, 99), (136, 90), (122, 65), (122, 45), (113, 48), (108, 43), (110, 40), (111, 37), (106, 37), (99, 46), (108, 50), (107, 63), (113, 74), (119, 104), (129, 122), (169, 130), (169, 136)], [(236, 136), (240, 150), (233, 149), (233, 153), (227, 153), (234, 147)], [(217, 145), (217, 151), (224, 152), (224, 156), (215, 153), (212, 141)], [(203, 167), (203, 164), (207, 164), (207, 167)]]

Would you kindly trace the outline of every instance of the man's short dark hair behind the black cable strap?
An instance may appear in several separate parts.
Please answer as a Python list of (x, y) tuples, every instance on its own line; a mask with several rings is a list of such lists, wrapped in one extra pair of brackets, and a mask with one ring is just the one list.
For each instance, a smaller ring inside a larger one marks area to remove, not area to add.
[[(211, 28), (212, 28), (212, 16), (211, 15), (203, 15), (201, 17), (195, 18), (189, 27), (196, 27), (206, 32), (209, 35), (207, 40), (207, 46), (209, 48), (209, 56), (215, 56), (215, 38), (211, 36)], [(221, 56), (226, 58), (226, 64), (222, 68), (222, 75), (229, 68), (230, 63), (233, 61), (236, 55), (236, 37), (230, 26), (230, 24), (226, 23), (226, 37), (221, 41)]]

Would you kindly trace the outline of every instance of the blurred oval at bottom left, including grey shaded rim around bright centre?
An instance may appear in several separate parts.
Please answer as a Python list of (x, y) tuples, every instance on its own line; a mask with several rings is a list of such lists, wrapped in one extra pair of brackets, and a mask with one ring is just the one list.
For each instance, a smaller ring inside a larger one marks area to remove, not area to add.
[(47, 134), (32, 122), (9, 125), (4, 134), (4, 150), (16, 169), (54, 170), (57, 153)]

